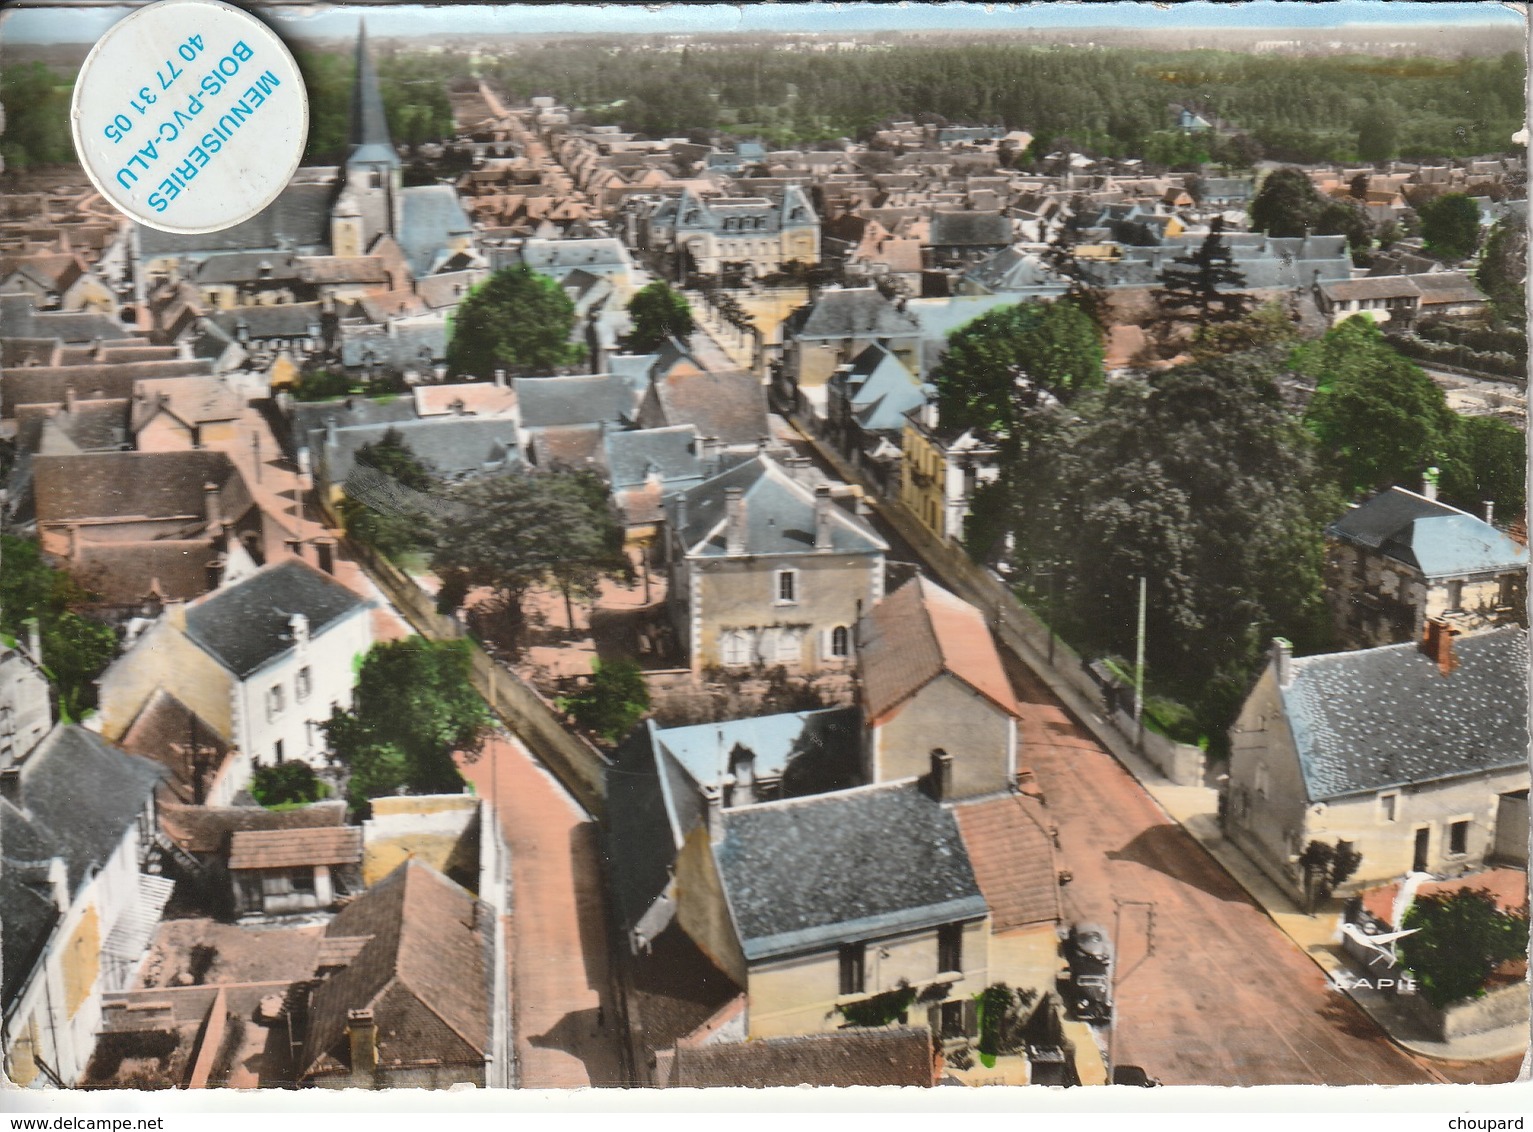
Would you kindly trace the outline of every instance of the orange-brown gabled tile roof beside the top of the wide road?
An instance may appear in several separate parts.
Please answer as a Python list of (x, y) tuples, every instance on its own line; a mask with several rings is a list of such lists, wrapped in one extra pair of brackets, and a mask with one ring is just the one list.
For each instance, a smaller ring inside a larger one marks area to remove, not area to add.
[(943, 672), (1003, 712), (1018, 713), (984, 615), (927, 578), (911, 578), (874, 606), (857, 640), (869, 722), (878, 722)]

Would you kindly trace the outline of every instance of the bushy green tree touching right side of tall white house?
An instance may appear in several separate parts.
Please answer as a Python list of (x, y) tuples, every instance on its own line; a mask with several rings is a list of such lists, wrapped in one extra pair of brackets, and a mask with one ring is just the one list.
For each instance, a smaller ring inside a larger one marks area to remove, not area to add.
[(351, 710), (325, 724), (346, 767), (351, 808), (391, 793), (454, 793), (463, 787), (454, 755), (477, 758), (491, 713), (469, 683), (463, 641), (408, 637), (374, 644), (362, 661)]

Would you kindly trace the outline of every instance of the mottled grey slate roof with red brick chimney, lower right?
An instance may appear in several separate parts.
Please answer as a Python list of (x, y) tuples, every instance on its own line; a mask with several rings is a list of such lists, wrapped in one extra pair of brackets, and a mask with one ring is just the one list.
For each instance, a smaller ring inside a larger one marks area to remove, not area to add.
[(1527, 630), (1453, 653), (1446, 676), (1416, 644), (1292, 660), (1283, 712), (1311, 802), (1527, 765)]

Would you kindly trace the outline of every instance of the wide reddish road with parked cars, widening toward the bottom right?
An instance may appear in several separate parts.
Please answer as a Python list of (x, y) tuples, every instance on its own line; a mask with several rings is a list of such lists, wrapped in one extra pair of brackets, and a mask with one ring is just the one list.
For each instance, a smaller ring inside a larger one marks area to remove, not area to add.
[[(1113, 1058), (1167, 1084), (1439, 1080), (1384, 1037), (1026, 667), (1023, 762), (1059, 827), (1070, 919), (1119, 933)], [(1122, 902), (1122, 903), (1119, 903)]]

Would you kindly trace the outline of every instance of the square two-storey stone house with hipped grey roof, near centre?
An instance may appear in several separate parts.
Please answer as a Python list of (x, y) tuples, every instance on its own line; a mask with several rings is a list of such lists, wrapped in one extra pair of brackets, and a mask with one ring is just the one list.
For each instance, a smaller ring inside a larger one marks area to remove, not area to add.
[(760, 454), (665, 500), (668, 601), (693, 675), (845, 669), (852, 629), (883, 597), (872, 528)]

